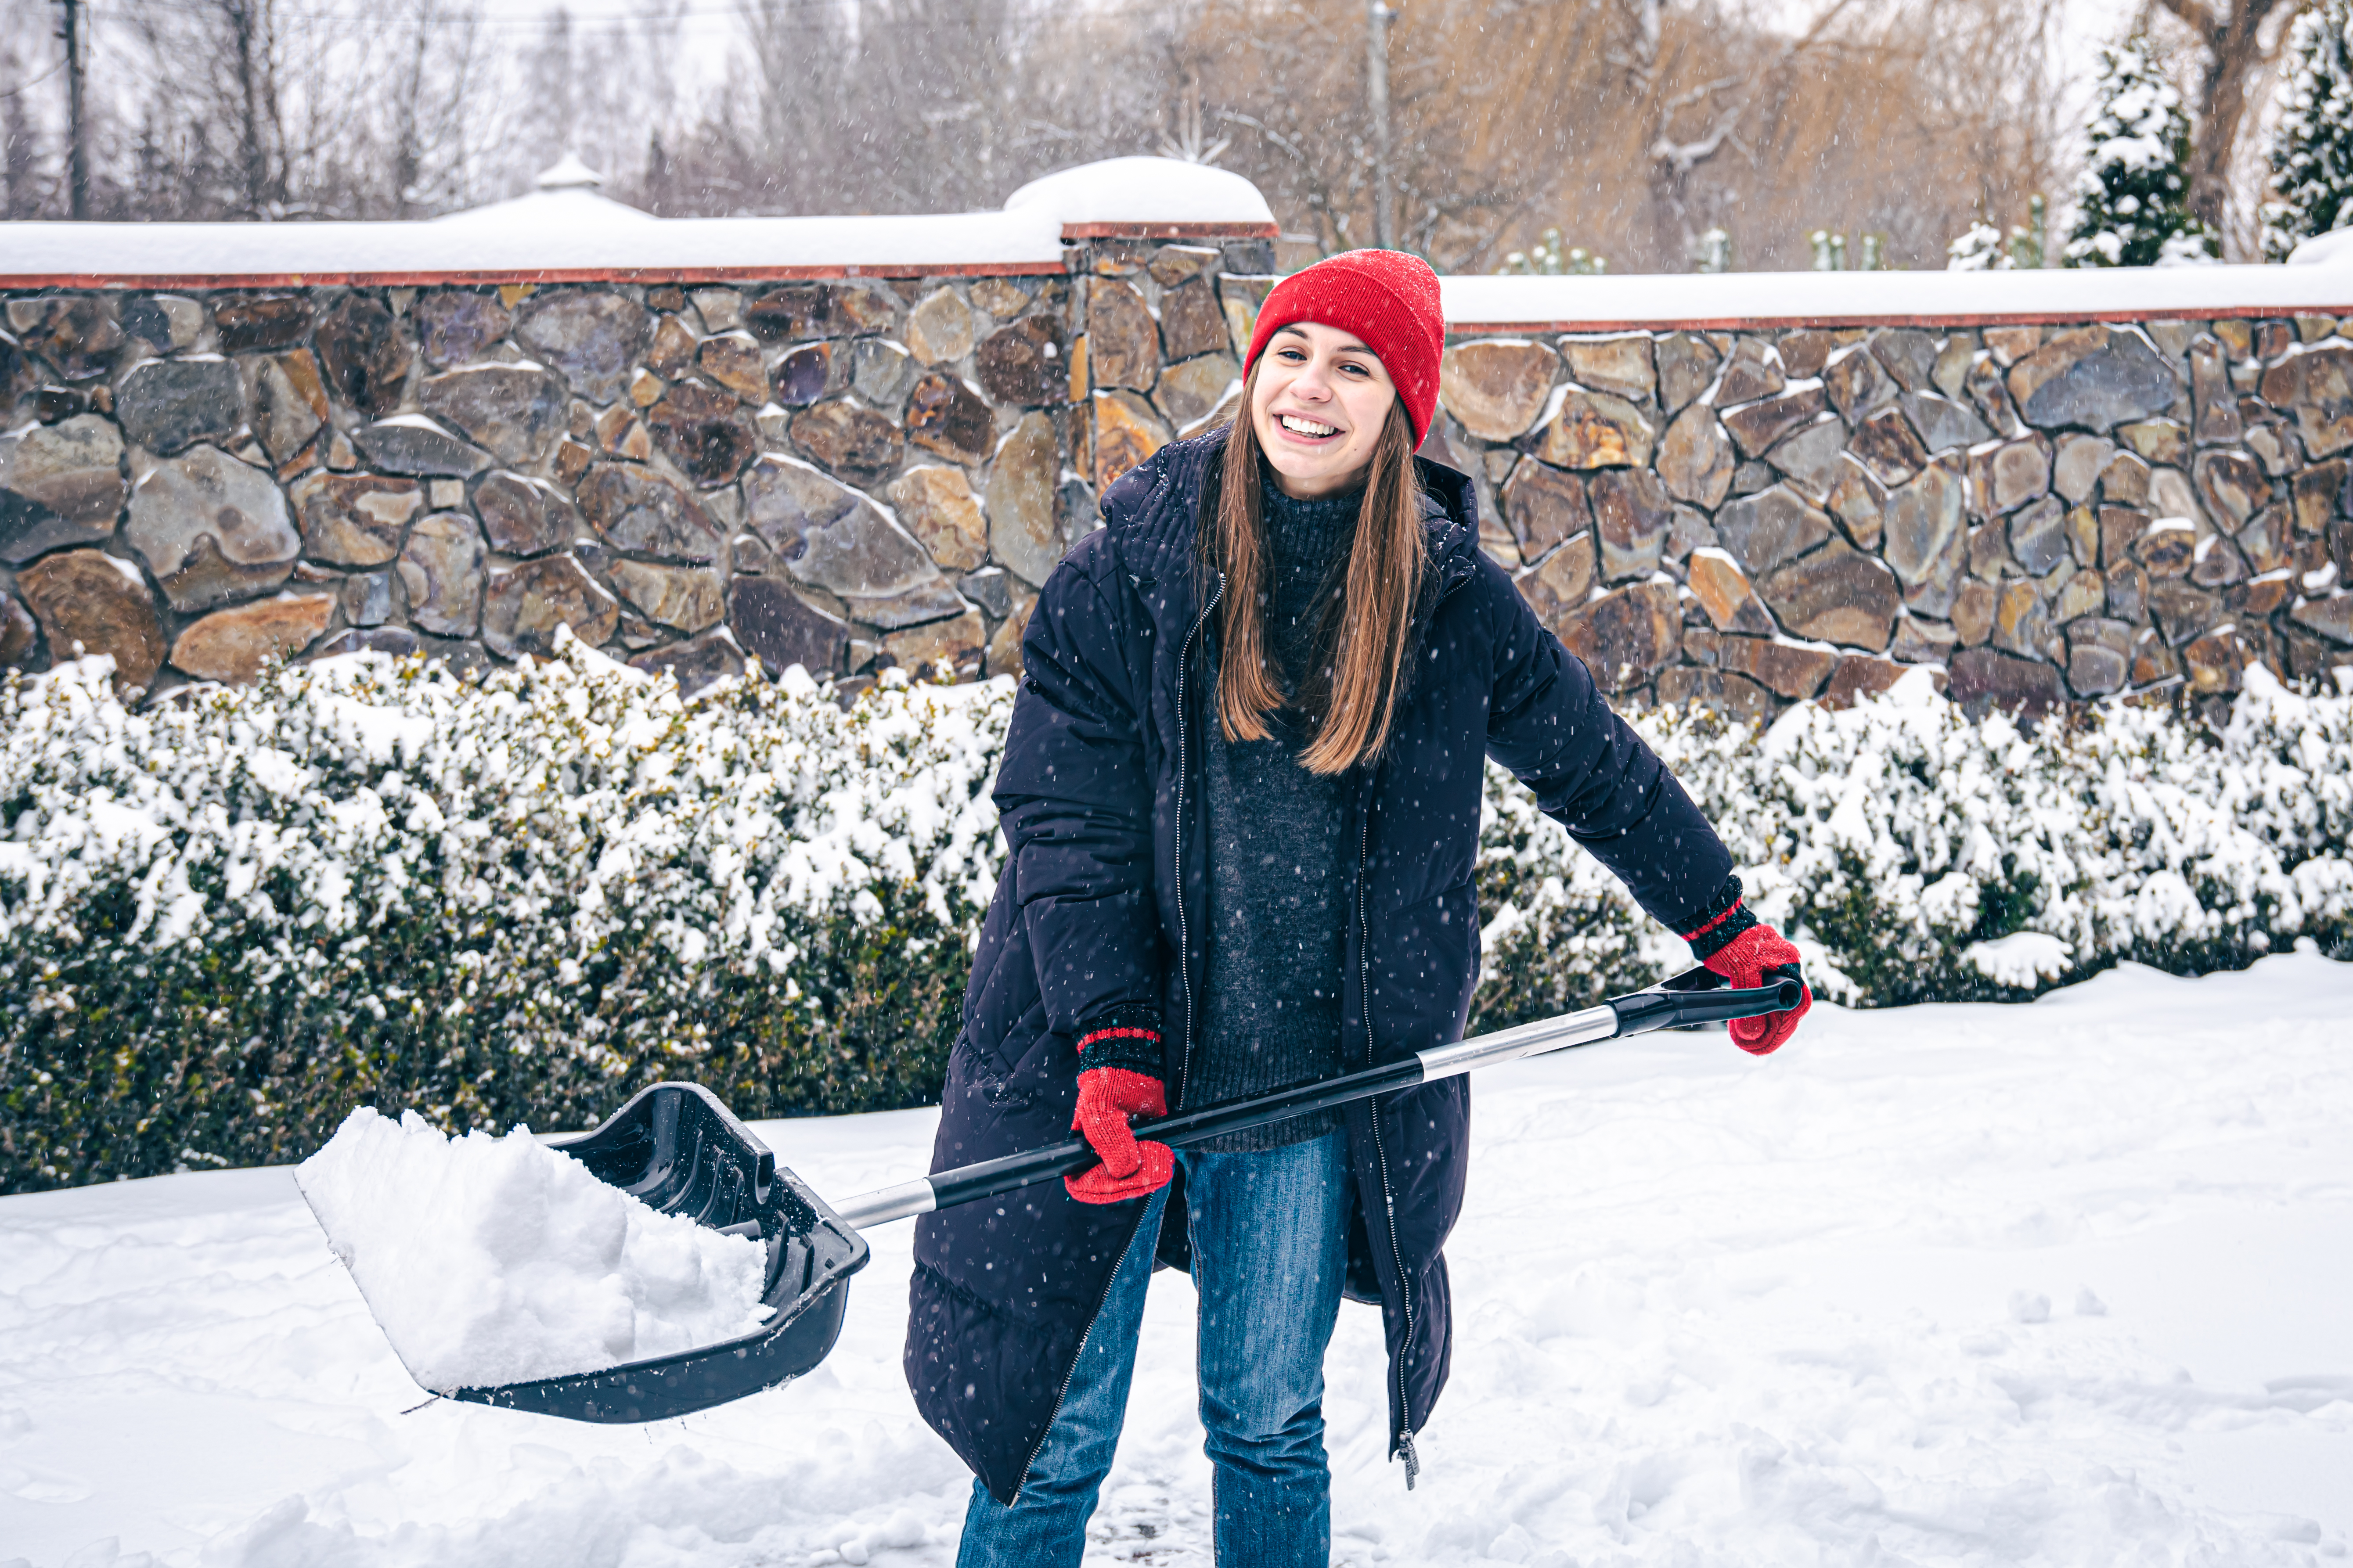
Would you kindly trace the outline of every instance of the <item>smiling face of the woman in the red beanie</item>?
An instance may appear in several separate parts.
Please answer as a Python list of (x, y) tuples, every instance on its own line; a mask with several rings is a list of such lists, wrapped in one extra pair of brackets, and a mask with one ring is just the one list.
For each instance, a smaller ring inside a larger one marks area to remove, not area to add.
[(1355, 487), (1372, 465), (1398, 386), (1379, 355), (1322, 322), (1294, 322), (1259, 355), (1249, 423), (1294, 501)]

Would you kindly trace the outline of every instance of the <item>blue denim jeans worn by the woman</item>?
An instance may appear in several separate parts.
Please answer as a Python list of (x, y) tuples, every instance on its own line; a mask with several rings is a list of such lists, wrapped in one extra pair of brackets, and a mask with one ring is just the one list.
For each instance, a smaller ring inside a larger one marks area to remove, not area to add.
[[(1200, 1425), (1214, 1465), (1219, 1568), (1332, 1561), (1322, 1356), (1348, 1267), (1346, 1140), (1334, 1131), (1254, 1154), (1176, 1154), (1200, 1295)], [(972, 1483), (958, 1568), (1078, 1568), (1120, 1443), (1167, 1190), (1144, 1204), (1021, 1495), (1005, 1507)]]

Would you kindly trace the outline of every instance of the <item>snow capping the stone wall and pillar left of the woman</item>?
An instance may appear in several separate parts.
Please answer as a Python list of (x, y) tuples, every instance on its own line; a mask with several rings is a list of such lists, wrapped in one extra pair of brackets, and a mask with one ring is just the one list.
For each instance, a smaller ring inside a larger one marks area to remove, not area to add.
[(1240, 174), (1169, 158), (1064, 169), (1002, 212), (814, 219), (656, 219), (591, 174), (426, 223), (5, 223), (0, 287), (1059, 273), (1066, 237), (1106, 233), (1273, 235), (1275, 221)]

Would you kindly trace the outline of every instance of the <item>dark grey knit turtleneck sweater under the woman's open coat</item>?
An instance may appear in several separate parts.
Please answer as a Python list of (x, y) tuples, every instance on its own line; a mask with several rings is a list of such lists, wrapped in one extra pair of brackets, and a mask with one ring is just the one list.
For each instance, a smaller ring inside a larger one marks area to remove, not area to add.
[[(1261, 494), (1266, 646), (1282, 686), (1297, 691), (1315, 656), (1320, 590), (1339, 592), (1362, 491), (1292, 501), (1268, 473)], [(1209, 985), (1186, 1107), (1339, 1074), (1346, 785), (1299, 766), (1301, 715), (1282, 710), (1271, 729), (1268, 741), (1226, 741), (1214, 717), (1207, 724)], [(1308, 1112), (1200, 1147), (1275, 1150), (1334, 1126), (1339, 1112)]]

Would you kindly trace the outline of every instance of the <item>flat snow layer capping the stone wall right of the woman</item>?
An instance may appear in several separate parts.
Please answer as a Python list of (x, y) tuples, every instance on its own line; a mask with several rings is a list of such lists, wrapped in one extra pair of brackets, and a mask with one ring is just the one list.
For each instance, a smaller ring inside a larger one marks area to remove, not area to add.
[[(2311, 244), (2306, 244), (2311, 249)], [(2304, 261), (2299, 252), (2299, 261)], [(2313, 266), (2047, 268), (2024, 273), (1612, 273), (1440, 277), (1454, 331), (1969, 320), (2141, 320), (2344, 313), (2353, 247)]]

